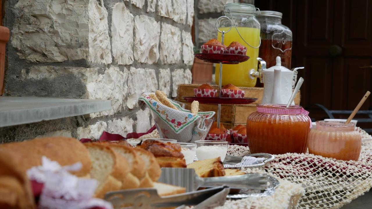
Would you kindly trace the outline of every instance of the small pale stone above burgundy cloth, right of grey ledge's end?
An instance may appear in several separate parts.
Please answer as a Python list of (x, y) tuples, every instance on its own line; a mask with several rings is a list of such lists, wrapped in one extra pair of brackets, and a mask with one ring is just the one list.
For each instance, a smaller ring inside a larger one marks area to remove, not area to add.
[(126, 136), (133, 132), (133, 119), (128, 116), (121, 119), (113, 119), (107, 122), (107, 132)]

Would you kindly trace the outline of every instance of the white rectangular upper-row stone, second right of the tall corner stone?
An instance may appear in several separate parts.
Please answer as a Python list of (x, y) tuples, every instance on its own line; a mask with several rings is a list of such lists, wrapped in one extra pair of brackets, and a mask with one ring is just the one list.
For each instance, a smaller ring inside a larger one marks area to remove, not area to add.
[(160, 22), (146, 15), (134, 18), (134, 58), (138, 62), (153, 64), (159, 58)]

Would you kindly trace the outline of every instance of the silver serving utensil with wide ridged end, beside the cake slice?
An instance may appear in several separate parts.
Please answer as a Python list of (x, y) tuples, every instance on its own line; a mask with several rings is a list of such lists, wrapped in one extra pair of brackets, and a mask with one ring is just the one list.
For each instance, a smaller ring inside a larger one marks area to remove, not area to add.
[(238, 176), (221, 176), (202, 178), (193, 168), (161, 168), (159, 182), (186, 187), (186, 191), (195, 191), (199, 187), (216, 187), (227, 185), (234, 189), (267, 189), (267, 174), (244, 174)]

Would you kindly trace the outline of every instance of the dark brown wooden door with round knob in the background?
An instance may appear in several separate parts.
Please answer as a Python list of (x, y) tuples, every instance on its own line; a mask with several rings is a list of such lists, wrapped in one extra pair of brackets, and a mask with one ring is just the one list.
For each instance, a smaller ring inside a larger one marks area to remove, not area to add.
[[(305, 79), (302, 106), (352, 110), (372, 90), (372, 0), (256, 0), (255, 5), (282, 12), (282, 23), (292, 30), (292, 67), (305, 67), (299, 70)], [(362, 109), (371, 106), (372, 96)]]

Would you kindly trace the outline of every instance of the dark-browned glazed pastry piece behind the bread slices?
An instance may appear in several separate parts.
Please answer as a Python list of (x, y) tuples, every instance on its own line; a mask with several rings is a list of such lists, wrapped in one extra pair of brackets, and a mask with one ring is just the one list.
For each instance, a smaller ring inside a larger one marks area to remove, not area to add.
[(138, 147), (151, 152), (155, 156), (160, 167), (186, 167), (186, 161), (179, 144), (170, 142), (163, 143), (149, 139), (143, 141)]

